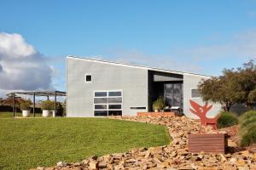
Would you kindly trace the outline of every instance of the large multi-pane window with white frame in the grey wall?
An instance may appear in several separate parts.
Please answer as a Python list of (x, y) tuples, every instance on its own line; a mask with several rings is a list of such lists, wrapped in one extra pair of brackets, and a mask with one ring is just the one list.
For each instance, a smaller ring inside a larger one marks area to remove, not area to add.
[(122, 116), (123, 93), (121, 90), (94, 92), (94, 116)]

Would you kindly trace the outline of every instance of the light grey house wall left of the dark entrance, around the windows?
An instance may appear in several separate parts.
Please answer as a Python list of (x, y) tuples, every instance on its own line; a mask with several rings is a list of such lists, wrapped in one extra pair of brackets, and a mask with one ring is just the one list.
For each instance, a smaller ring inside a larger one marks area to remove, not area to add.
[[(85, 82), (85, 74), (92, 82)], [(67, 58), (67, 116), (94, 116), (94, 91), (101, 90), (123, 90), (123, 115), (136, 115), (130, 107), (148, 110), (147, 70)]]

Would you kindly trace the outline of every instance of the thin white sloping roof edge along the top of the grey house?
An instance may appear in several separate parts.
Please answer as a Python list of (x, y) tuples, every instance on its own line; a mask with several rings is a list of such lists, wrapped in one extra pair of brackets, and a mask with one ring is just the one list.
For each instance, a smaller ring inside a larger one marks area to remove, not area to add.
[(88, 60), (88, 61), (91, 61), (91, 62), (97, 62), (97, 63), (103, 63), (103, 64), (109, 64), (109, 65), (127, 66), (127, 67), (150, 70), (150, 71), (160, 71), (160, 72), (167, 72), (167, 73), (181, 74), (181, 75), (192, 75), (192, 76), (199, 76), (199, 77), (212, 77), (212, 76), (208, 76), (208, 75), (185, 72), (185, 71), (172, 71), (172, 70), (161, 69), (161, 68), (156, 68), (156, 67), (148, 67), (148, 66), (143, 66), (143, 65), (133, 65), (133, 64), (127, 64), (127, 63), (118, 63), (118, 62), (113, 62), (113, 61), (108, 61), (108, 60), (103, 60), (103, 59), (83, 58), (83, 57), (77, 57), (77, 56), (73, 56), (73, 55), (68, 55), (67, 58), (70, 58), (70, 59), (84, 59), (84, 60)]

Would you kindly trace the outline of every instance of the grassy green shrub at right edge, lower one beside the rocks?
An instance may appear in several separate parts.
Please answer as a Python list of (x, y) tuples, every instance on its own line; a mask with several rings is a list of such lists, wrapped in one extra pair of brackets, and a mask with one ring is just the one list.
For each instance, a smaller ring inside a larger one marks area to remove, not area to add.
[(253, 127), (250, 127), (241, 137), (241, 146), (248, 146), (250, 144), (256, 143), (256, 124)]

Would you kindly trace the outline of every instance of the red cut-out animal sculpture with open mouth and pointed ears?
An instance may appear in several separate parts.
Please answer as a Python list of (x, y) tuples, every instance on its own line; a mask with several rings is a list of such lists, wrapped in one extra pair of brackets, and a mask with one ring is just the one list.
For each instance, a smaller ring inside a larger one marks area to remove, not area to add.
[(215, 116), (214, 118), (207, 117), (207, 112), (212, 109), (212, 105), (208, 106), (208, 103), (206, 103), (204, 106), (201, 106), (191, 99), (189, 99), (189, 102), (194, 109), (194, 110), (189, 109), (189, 111), (194, 113), (196, 116), (200, 117), (200, 121), (202, 125), (204, 126), (211, 125), (214, 129), (217, 129), (216, 125), (217, 125), (218, 116)]

